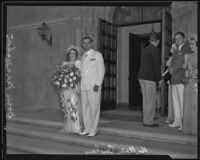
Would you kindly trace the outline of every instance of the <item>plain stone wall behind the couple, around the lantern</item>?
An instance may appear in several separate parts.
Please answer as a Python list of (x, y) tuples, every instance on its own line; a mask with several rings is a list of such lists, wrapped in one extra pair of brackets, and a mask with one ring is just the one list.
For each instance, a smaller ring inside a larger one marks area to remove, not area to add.
[[(97, 47), (98, 19), (107, 19), (109, 7), (8, 7), (8, 33), (14, 36), (12, 91), (14, 109), (58, 109), (58, 91), (50, 77), (64, 61), (68, 44), (80, 45), (90, 35)], [(52, 46), (43, 41), (37, 27), (46, 22), (53, 36)]]

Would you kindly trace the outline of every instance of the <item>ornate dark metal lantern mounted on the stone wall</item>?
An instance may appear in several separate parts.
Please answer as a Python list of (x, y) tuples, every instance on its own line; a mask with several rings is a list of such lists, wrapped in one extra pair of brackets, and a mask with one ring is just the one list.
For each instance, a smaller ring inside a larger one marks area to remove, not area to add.
[(50, 27), (43, 22), (41, 26), (38, 27), (38, 34), (42, 40), (47, 41), (47, 43), (52, 45), (52, 33)]

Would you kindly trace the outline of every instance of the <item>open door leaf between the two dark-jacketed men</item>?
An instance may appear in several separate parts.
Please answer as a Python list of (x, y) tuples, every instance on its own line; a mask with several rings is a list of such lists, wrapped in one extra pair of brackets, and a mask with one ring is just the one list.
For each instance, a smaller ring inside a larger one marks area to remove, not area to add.
[[(166, 57), (172, 45), (172, 16), (167, 8), (162, 8), (162, 53), (161, 72), (164, 72)], [(161, 87), (161, 116), (166, 114), (168, 106), (168, 86), (164, 82)]]

